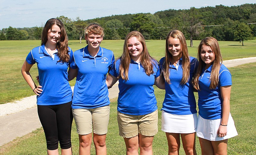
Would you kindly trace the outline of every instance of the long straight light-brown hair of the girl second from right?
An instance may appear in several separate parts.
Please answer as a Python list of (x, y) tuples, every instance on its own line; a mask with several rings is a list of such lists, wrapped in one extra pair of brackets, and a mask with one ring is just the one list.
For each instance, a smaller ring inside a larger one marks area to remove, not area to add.
[(181, 57), (182, 57), (182, 79), (180, 81), (180, 84), (185, 85), (188, 80), (189, 80), (189, 70), (190, 70), (190, 59), (189, 59), (189, 55), (188, 55), (188, 47), (187, 47), (187, 43), (186, 43), (186, 38), (183, 35), (182, 32), (180, 32), (179, 30), (173, 30), (170, 31), (166, 37), (165, 40), (165, 58), (164, 58), (164, 64), (163, 64), (163, 70), (162, 70), (162, 75), (164, 76), (165, 81), (168, 84), (171, 84), (170, 81), (170, 61), (172, 59), (172, 54), (169, 52), (168, 50), (168, 39), (169, 38), (177, 38), (180, 40), (180, 46), (181, 46)]

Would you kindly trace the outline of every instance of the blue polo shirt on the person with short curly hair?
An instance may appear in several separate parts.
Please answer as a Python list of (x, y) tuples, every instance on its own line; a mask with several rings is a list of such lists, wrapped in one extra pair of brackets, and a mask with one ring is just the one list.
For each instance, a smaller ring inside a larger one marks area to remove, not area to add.
[(115, 61), (114, 53), (106, 48), (99, 49), (93, 57), (85, 48), (76, 50), (70, 67), (77, 69), (76, 84), (72, 100), (73, 109), (90, 109), (110, 104), (106, 77)]

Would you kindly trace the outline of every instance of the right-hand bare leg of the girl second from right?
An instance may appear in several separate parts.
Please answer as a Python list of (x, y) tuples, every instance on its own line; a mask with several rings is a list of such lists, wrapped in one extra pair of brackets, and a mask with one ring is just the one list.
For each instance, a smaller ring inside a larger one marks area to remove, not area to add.
[(186, 155), (196, 154), (196, 132), (190, 133), (190, 134), (180, 134), (183, 149), (186, 153)]

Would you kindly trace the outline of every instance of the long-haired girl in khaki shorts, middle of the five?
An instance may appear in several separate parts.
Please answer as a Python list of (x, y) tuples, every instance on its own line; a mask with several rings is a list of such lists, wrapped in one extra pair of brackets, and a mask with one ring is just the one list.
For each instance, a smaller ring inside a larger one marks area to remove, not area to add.
[(117, 121), (124, 137), (127, 155), (153, 154), (158, 112), (153, 85), (164, 89), (157, 61), (148, 53), (145, 39), (138, 31), (126, 35), (124, 50), (107, 76), (111, 87), (119, 80)]

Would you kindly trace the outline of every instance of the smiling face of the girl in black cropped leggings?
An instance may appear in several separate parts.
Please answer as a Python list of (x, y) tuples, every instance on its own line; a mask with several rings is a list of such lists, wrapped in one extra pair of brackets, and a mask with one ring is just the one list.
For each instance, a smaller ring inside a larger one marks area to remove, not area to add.
[(57, 44), (61, 37), (60, 27), (57, 25), (52, 26), (52, 31), (49, 29), (47, 34), (47, 42), (50, 44)]

